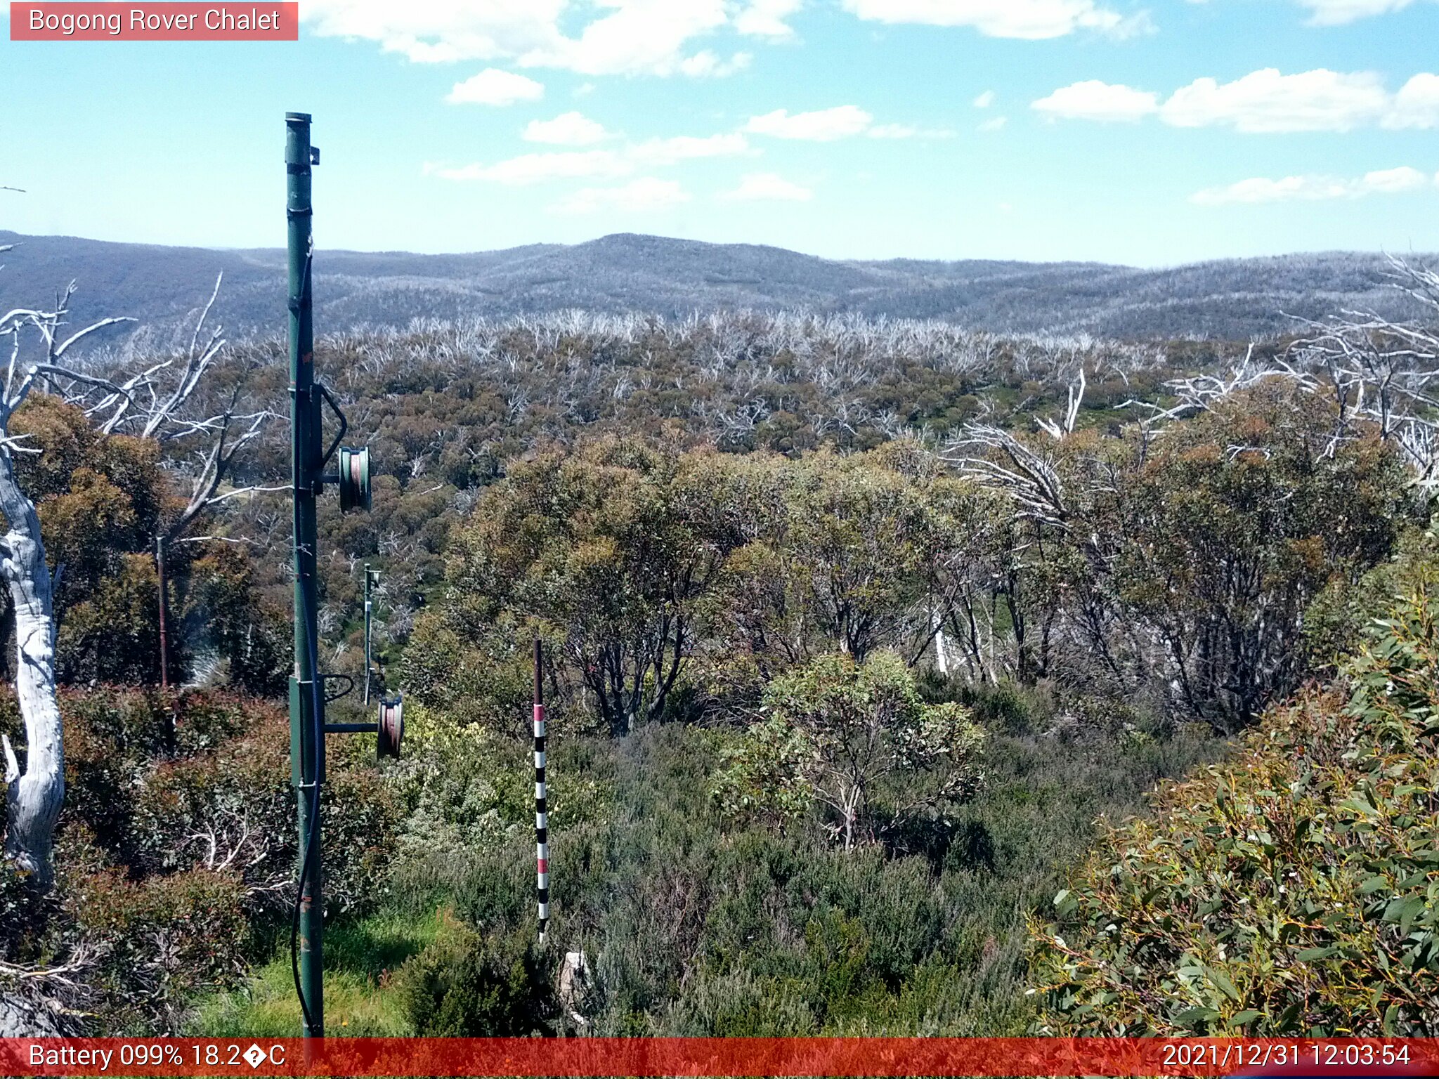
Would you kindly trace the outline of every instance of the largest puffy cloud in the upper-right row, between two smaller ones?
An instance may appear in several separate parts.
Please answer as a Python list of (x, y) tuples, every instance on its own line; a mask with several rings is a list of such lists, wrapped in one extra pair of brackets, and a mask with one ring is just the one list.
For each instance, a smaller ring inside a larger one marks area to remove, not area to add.
[(1161, 118), (1176, 127), (1227, 124), (1238, 131), (1350, 131), (1380, 119), (1390, 104), (1377, 75), (1274, 68), (1219, 83), (1196, 79), (1174, 91)]

